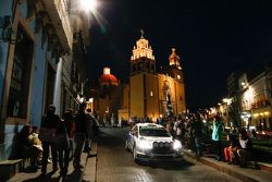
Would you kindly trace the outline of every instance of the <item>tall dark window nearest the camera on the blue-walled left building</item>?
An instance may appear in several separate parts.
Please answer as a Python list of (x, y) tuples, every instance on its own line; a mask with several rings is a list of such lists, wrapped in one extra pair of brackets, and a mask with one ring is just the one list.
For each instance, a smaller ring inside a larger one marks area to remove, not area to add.
[(17, 29), (11, 85), (8, 101), (8, 117), (25, 119), (29, 94), (29, 80), (33, 58), (33, 41), (21, 26)]

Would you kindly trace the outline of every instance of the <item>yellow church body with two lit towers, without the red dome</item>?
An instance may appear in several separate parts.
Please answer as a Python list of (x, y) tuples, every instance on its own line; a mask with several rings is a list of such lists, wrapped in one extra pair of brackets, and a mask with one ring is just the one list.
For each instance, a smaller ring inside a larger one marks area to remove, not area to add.
[(119, 119), (148, 117), (156, 121), (159, 117), (168, 116), (170, 108), (174, 116), (184, 113), (185, 85), (180, 57), (175, 53), (175, 49), (172, 48), (169, 65), (157, 73), (153, 50), (141, 31), (141, 37), (136, 41), (131, 57), (129, 85), (124, 90), (128, 92), (124, 94), (128, 99), (123, 99), (128, 108), (127, 113), (125, 108), (121, 109)]

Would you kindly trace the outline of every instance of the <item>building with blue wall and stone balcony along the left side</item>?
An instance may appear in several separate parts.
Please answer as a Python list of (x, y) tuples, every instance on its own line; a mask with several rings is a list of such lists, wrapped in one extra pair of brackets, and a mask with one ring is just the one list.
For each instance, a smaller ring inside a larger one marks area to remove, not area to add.
[[(88, 15), (77, 0), (0, 1), (0, 161), (47, 106), (77, 108), (86, 82)], [(75, 28), (76, 27), (76, 28)]]

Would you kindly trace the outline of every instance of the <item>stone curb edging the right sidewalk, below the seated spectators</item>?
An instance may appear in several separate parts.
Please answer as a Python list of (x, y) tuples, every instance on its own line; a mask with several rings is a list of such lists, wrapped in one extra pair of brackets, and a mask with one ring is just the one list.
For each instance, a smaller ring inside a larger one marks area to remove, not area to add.
[(207, 166), (209, 166), (209, 167), (211, 167), (211, 168), (214, 168), (214, 169), (217, 169), (217, 170), (219, 170), (219, 171), (221, 171), (221, 172), (223, 172), (223, 173), (226, 173), (226, 174), (228, 174), (228, 175), (231, 175), (231, 177), (233, 177), (233, 178), (236, 178), (236, 179), (238, 179), (238, 180), (247, 181), (247, 182), (259, 182), (258, 180), (252, 179), (252, 178), (250, 178), (250, 177), (247, 177), (247, 175), (245, 175), (245, 174), (243, 174), (243, 173), (240, 173), (240, 172), (237, 172), (237, 171), (235, 171), (235, 170), (232, 170), (232, 169), (222, 167), (221, 165), (218, 165), (217, 162), (209, 161), (209, 160), (207, 160), (207, 159), (205, 159), (205, 158), (201, 158), (201, 157), (200, 157), (200, 158), (197, 158), (196, 155), (194, 155), (194, 154), (191, 154), (191, 153), (189, 153), (189, 151), (184, 150), (184, 155), (185, 155), (186, 157), (196, 159), (197, 161), (199, 161), (199, 162), (201, 162), (201, 163), (203, 163), (203, 165), (207, 165)]

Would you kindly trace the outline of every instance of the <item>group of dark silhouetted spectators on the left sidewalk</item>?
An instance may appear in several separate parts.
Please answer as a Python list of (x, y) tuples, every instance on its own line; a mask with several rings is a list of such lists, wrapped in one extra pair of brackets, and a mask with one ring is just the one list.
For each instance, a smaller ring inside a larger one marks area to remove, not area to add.
[(62, 119), (50, 105), (42, 117), (40, 129), (25, 124), (15, 137), (15, 158), (30, 159), (30, 169), (41, 169), (47, 177), (47, 166), (52, 163), (52, 172), (60, 169), (62, 181), (67, 180), (67, 168), (73, 161), (75, 170), (82, 170), (83, 151), (90, 150), (90, 142), (99, 133), (98, 120), (82, 104), (76, 113), (67, 110)]

